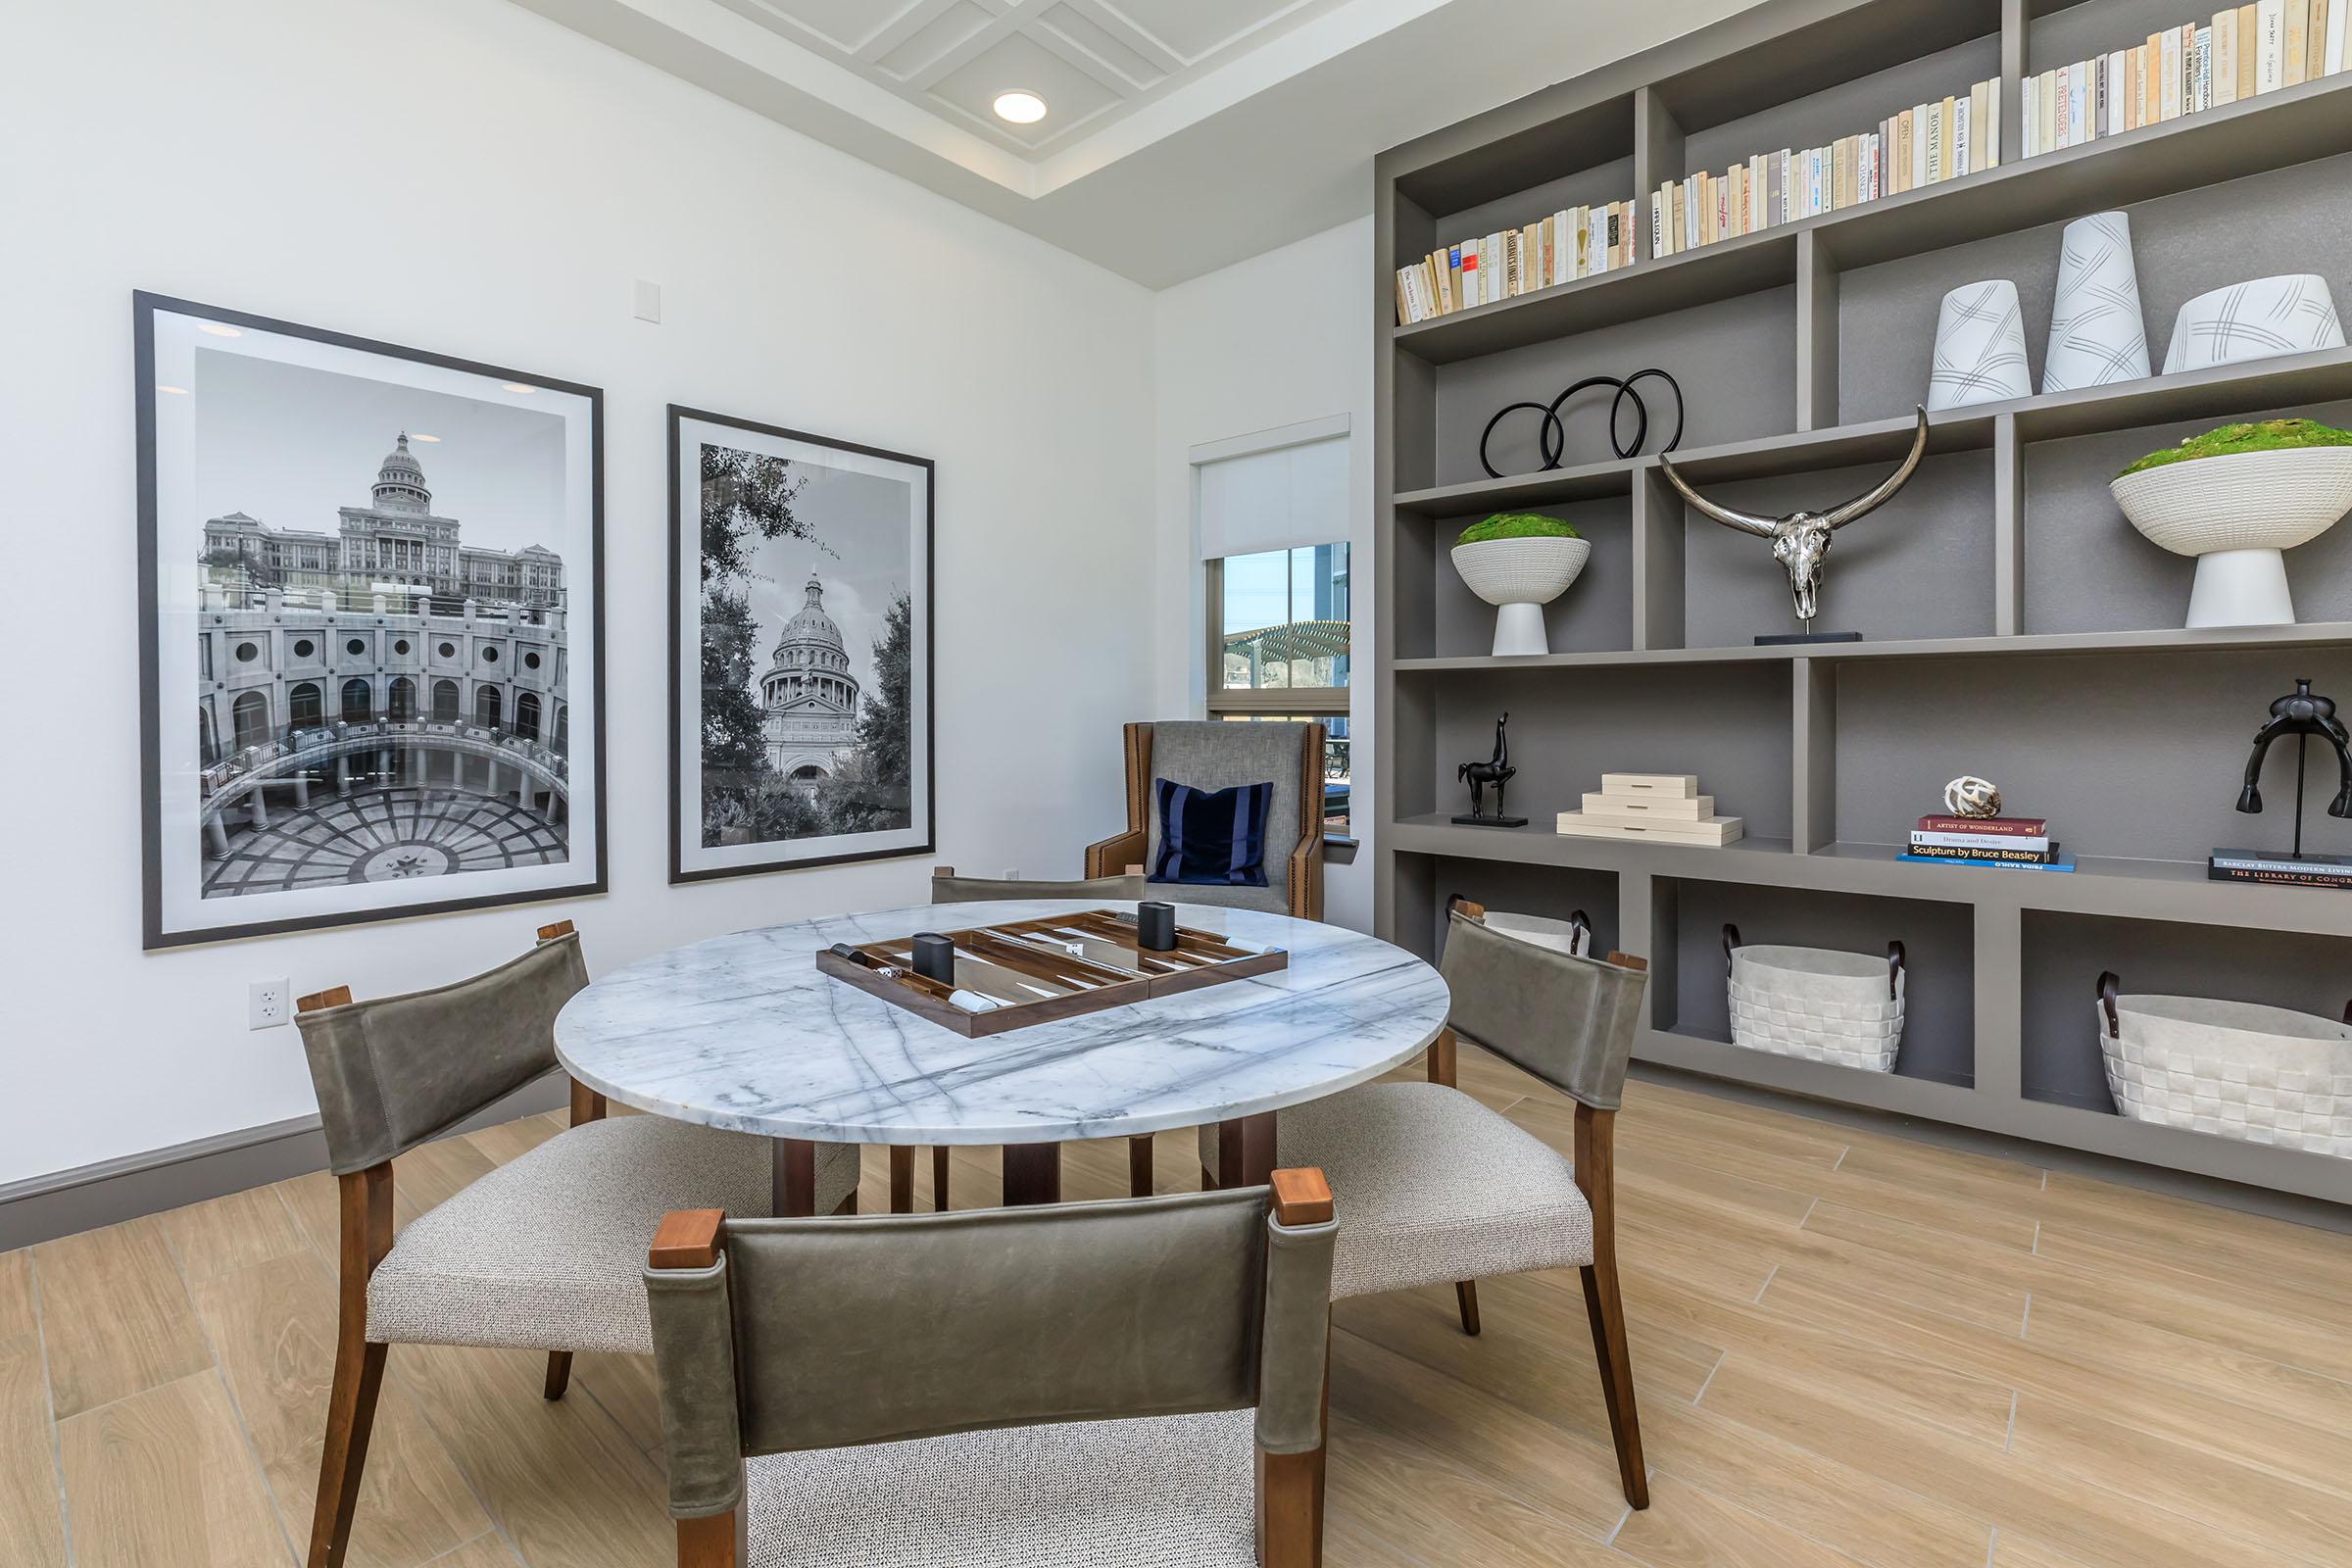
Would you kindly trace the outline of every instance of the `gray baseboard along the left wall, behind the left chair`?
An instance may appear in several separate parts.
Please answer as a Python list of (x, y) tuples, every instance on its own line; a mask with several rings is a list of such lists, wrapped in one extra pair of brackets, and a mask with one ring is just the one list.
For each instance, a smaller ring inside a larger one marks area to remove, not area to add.
[[(466, 1133), (569, 1103), (569, 1079), (555, 1072), (475, 1112), (454, 1131)], [(28, 1175), (0, 1185), (0, 1253), (325, 1168), (327, 1140), (318, 1131), (318, 1117), (289, 1117), (141, 1154), (118, 1154), (73, 1171)]]

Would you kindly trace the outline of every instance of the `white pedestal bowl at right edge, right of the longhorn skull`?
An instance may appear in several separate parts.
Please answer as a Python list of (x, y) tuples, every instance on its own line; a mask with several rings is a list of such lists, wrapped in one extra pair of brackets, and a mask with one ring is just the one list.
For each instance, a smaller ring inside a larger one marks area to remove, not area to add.
[(2192, 628), (2293, 625), (2281, 550), (2319, 538), (2352, 510), (2352, 447), (2190, 458), (2107, 489), (2152, 545), (2197, 557)]

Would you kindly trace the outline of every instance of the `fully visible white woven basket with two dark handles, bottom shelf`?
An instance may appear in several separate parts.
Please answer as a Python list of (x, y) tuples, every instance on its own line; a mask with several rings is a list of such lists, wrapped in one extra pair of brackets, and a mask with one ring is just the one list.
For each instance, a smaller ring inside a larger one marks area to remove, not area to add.
[(1893, 1072), (1903, 1048), (1903, 950), (1884, 959), (1832, 947), (1740, 947), (1731, 954), (1731, 1044), (1809, 1063)]

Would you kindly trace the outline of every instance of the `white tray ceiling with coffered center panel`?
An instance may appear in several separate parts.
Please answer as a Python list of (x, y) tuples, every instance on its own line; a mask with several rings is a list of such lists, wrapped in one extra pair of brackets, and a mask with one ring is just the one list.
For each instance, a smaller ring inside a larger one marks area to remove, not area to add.
[[(515, 0), (1155, 289), (1362, 216), (1381, 148), (1755, 2)], [(1044, 118), (1000, 120), (1011, 89)]]

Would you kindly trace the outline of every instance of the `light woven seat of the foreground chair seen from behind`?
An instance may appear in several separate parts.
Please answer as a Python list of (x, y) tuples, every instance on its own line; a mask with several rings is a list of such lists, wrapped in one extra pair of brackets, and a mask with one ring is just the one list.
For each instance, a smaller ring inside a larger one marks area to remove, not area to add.
[[(642, 1293), (642, 1286), (640, 1286)], [(746, 1465), (753, 1568), (1256, 1568), (1249, 1410)]]

